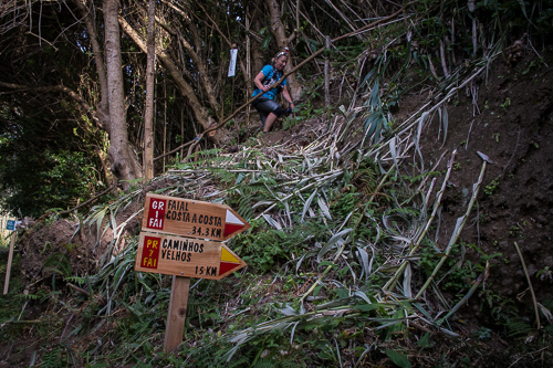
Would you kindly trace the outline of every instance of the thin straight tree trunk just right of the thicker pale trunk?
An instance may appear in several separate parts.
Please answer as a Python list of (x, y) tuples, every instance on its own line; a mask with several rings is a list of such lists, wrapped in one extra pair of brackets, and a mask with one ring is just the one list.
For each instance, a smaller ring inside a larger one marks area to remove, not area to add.
[(147, 35), (147, 65), (146, 65), (146, 112), (144, 114), (144, 178), (154, 178), (154, 69), (156, 64), (156, 45), (155, 45), (155, 14), (156, 0), (149, 0), (148, 6), (148, 35)]

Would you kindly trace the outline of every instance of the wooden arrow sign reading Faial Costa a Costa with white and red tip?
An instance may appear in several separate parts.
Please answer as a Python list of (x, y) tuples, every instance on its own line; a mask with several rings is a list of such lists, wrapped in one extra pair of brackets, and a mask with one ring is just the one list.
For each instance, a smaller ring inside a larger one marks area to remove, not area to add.
[(226, 204), (146, 194), (143, 231), (225, 241), (250, 224)]

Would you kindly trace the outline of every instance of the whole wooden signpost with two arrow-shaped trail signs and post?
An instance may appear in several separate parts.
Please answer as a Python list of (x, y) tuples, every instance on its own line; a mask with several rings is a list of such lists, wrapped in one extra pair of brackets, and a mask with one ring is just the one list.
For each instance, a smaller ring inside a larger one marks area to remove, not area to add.
[(146, 194), (135, 271), (173, 275), (166, 353), (182, 343), (190, 277), (220, 280), (244, 267), (246, 262), (220, 241), (249, 228), (225, 204)]

